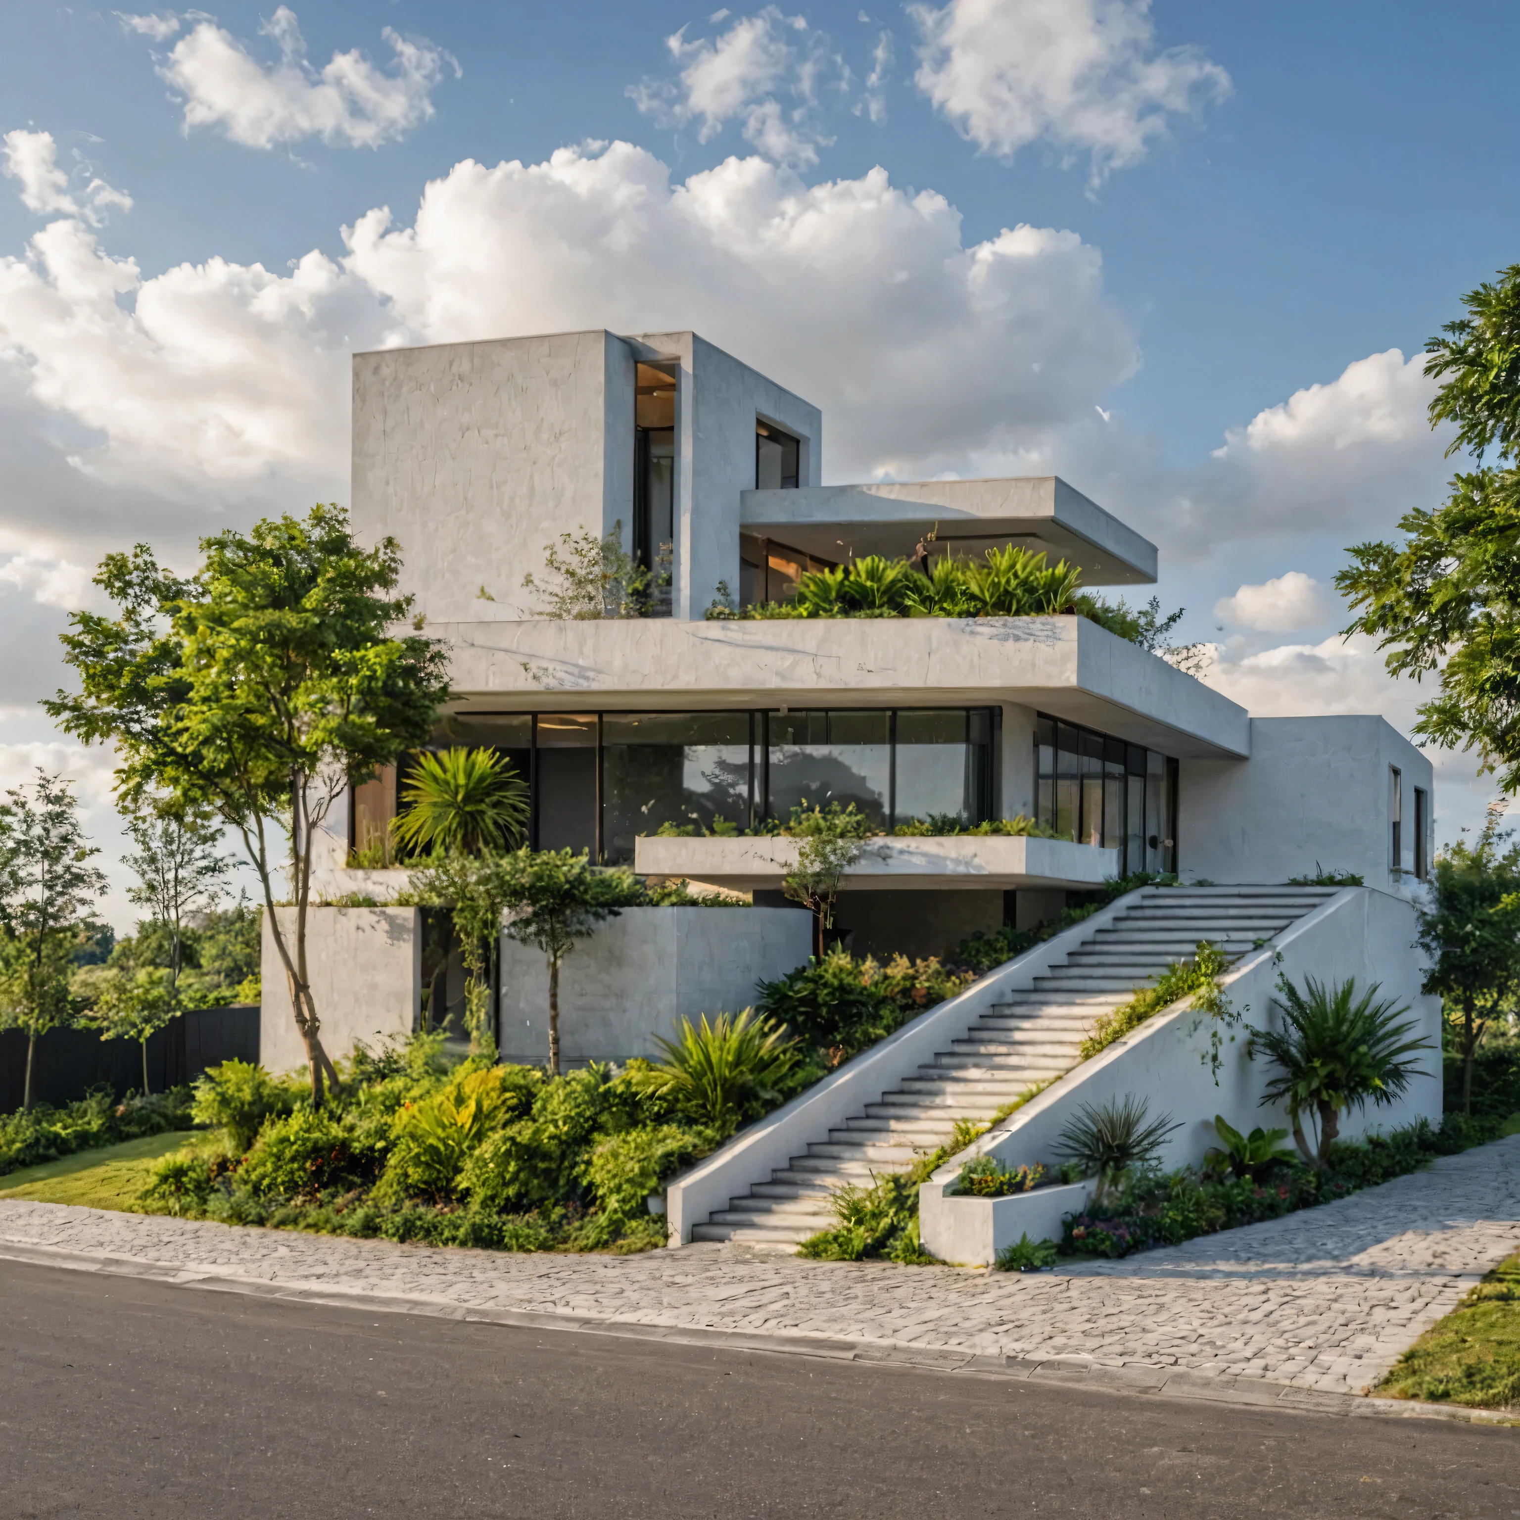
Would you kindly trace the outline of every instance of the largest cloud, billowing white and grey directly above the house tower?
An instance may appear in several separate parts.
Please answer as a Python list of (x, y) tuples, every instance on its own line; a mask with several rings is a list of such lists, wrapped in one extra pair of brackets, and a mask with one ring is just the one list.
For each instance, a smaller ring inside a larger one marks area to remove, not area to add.
[(696, 328), (828, 413), (831, 479), (935, 474), (1087, 413), (1135, 368), (1097, 249), (959, 213), (882, 169), (804, 187), (762, 158), (672, 184), (626, 143), (465, 161), (413, 225), (345, 230), (409, 340)]

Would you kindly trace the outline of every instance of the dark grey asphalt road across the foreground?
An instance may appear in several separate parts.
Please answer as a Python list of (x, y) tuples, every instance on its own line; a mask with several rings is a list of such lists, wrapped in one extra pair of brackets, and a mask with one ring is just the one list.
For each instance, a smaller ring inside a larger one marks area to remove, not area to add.
[(0, 1263), (0, 1515), (1520, 1515), (1520, 1430)]

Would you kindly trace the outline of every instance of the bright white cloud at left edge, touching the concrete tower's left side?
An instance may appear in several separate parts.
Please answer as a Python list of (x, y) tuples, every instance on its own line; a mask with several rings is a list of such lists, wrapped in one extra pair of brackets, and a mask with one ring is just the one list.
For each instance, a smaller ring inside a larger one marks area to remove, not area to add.
[(71, 453), (78, 470), (211, 506), (275, 471), (340, 477), (347, 345), (325, 324), (342, 318), (345, 286), (315, 252), (283, 277), (210, 258), (143, 280), (58, 220), (27, 258), (0, 258), (0, 362), (97, 432)]

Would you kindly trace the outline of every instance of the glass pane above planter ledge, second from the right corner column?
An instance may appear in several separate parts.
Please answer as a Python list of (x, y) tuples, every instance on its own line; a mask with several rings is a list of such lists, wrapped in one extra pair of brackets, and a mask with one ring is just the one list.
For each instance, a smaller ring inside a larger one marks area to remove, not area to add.
[(851, 803), (886, 825), (892, 807), (891, 714), (885, 711), (771, 713), (766, 813)]

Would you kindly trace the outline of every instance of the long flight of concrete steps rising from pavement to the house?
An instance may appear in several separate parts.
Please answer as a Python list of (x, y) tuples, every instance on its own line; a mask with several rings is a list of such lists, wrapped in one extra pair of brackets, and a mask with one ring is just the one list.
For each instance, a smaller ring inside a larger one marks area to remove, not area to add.
[(1064, 965), (994, 1003), (961, 1040), (844, 1128), (693, 1228), (693, 1240), (793, 1248), (833, 1222), (830, 1195), (906, 1170), (944, 1145), (958, 1119), (985, 1120), (1034, 1082), (1064, 1075), (1093, 1021), (1208, 939), (1237, 961), (1336, 892), (1333, 886), (1148, 888), (1107, 927), (1067, 930)]

